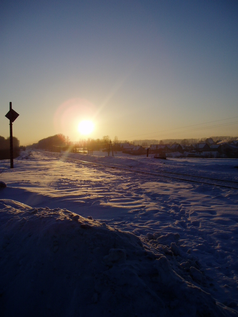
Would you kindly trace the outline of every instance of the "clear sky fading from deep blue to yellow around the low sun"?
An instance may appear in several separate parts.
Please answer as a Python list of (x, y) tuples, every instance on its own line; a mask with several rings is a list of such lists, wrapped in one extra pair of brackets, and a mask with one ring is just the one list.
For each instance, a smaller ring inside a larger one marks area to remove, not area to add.
[(1, 1), (0, 135), (12, 102), (21, 145), (237, 136), (237, 14), (219, 0)]

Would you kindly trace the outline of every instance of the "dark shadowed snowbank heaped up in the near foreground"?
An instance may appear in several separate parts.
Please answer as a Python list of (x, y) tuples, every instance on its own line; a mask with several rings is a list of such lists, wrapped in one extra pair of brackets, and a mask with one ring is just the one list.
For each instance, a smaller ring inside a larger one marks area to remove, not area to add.
[(68, 210), (0, 208), (1, 316), (232, 315), (131, 233)]

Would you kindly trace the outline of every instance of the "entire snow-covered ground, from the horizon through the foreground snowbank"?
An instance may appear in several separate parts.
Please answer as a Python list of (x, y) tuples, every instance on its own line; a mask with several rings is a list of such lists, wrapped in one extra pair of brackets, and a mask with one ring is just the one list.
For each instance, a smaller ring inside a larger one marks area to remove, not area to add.
[(28, 150), (9, 165), (1, 316), (238, 316), (237, 159)]

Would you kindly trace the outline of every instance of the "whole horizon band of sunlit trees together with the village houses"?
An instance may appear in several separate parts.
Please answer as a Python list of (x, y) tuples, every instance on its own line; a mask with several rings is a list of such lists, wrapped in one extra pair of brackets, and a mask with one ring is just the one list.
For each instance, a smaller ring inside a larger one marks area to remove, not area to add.
[[(4, 138), (3, 138), (4, 139)], [(215, 140), (214, 140), (215, 139)], [(0, 137), (1, 141), (1, 137)], [(189, 144), (191, 142), (191, 144)], [(153, 143), (153, 144), (150, 144)], [(0, 142), (1, 144), (1, 142)], [(136, 145), (142, 144), (142, 145)], [(150, 145), (149, 145), (150, 144)], [(123, 152), (130, 155), (147, 155), (155, 158), (238, 158), (237, 137), (210, 137), (208, 139), (168, 139), (168, 140), (134, 140), (113, 142), (109, 136), (102, 139), (88, 139), (79, 142), (70, 142), (63, 134), (56, 134), (38, 141), (29, 148), (43, 149), (46, 151), (61, 152), (82, 152), (93, 154), (95, 151), (108, 152), (111, 149), (115, 152)]]

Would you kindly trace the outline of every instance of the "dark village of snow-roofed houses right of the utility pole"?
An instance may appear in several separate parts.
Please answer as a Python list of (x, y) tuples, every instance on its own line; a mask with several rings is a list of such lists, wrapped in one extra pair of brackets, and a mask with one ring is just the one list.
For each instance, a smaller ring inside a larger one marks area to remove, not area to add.
[(157, 158), (238, 158), (238, 139), (226, 142), (206, 139), (203, 143), (182, 145), (151, 144), (149, 147), (134, 146), (129, 143), (115, 143), (115, 151), (122, 151), (131, 155), (149, 154)]

